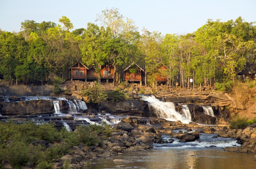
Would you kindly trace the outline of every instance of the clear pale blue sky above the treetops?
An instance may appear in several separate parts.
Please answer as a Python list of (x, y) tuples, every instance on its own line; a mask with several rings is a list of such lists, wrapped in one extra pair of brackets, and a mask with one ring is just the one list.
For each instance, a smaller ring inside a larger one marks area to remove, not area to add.
[(74, 29), (86, 28), (106, 8), (118, 8), (131, 18), (139, 31), (187, 34), (203, 26), (207, 19), (256, 21), (256, 0), (0, 0), (0, 28), (20, 31), (20, 23), (34, 20), (59, 24), (67, 16)]

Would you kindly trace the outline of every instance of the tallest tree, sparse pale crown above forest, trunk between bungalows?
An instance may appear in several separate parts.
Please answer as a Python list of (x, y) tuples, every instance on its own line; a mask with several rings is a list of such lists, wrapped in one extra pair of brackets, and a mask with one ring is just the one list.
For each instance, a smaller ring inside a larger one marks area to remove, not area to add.
[[(108, 55), (108, 60), (114, 66), (114, 85), (116, 80), (120, 77), (120, 67), (124, 64), (125, 58), (128, 56), (128, 46), (134, 43), (134, 37), (137, 36), (137, 27), (134, 25), (132, 19), (126, 18), (124, 21), (123, 15), (118, 12), (117, 8), (107, 8), (101, 14), (97, 15), (96, 21), (101, 21), (106, 30), (111, 32), (112, 39), (105, 44), (105, 52)], [(116, 75), (117, 72), (117, 75)]]

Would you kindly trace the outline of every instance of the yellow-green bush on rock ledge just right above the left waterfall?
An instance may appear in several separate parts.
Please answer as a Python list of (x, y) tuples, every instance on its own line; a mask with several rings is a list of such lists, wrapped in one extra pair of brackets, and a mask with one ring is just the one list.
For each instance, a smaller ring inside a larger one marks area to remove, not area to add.
[(90, 87), (86, 90), (80, 91), (81, 96), (87, 96), (90, 98), (91, 103), (101, 103), (107, 99), (107, 94), (100, 89), (100, 85), (96, 84), (95, 87)]

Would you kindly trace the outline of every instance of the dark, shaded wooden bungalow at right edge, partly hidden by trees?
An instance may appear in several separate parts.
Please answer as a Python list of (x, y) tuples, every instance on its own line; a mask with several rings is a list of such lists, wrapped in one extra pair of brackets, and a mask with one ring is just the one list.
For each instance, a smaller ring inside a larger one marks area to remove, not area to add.
[(247, 78), (256, 80), (256, 64), (255, 63), (246, 63), (245, 68), (238, 73), (238, 76), (242, 80), (247, 79)]

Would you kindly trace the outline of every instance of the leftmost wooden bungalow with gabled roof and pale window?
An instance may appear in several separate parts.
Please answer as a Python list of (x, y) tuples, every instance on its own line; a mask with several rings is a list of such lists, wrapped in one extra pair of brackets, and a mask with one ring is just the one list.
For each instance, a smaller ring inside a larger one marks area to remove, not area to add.
[(81, 62), (76, 62), (69, 68), (69, 70), (71, 70), (71, 81), (73, 79), (80, 79), (86, 81), (86, 70), (88, 70), (88, 68)]

